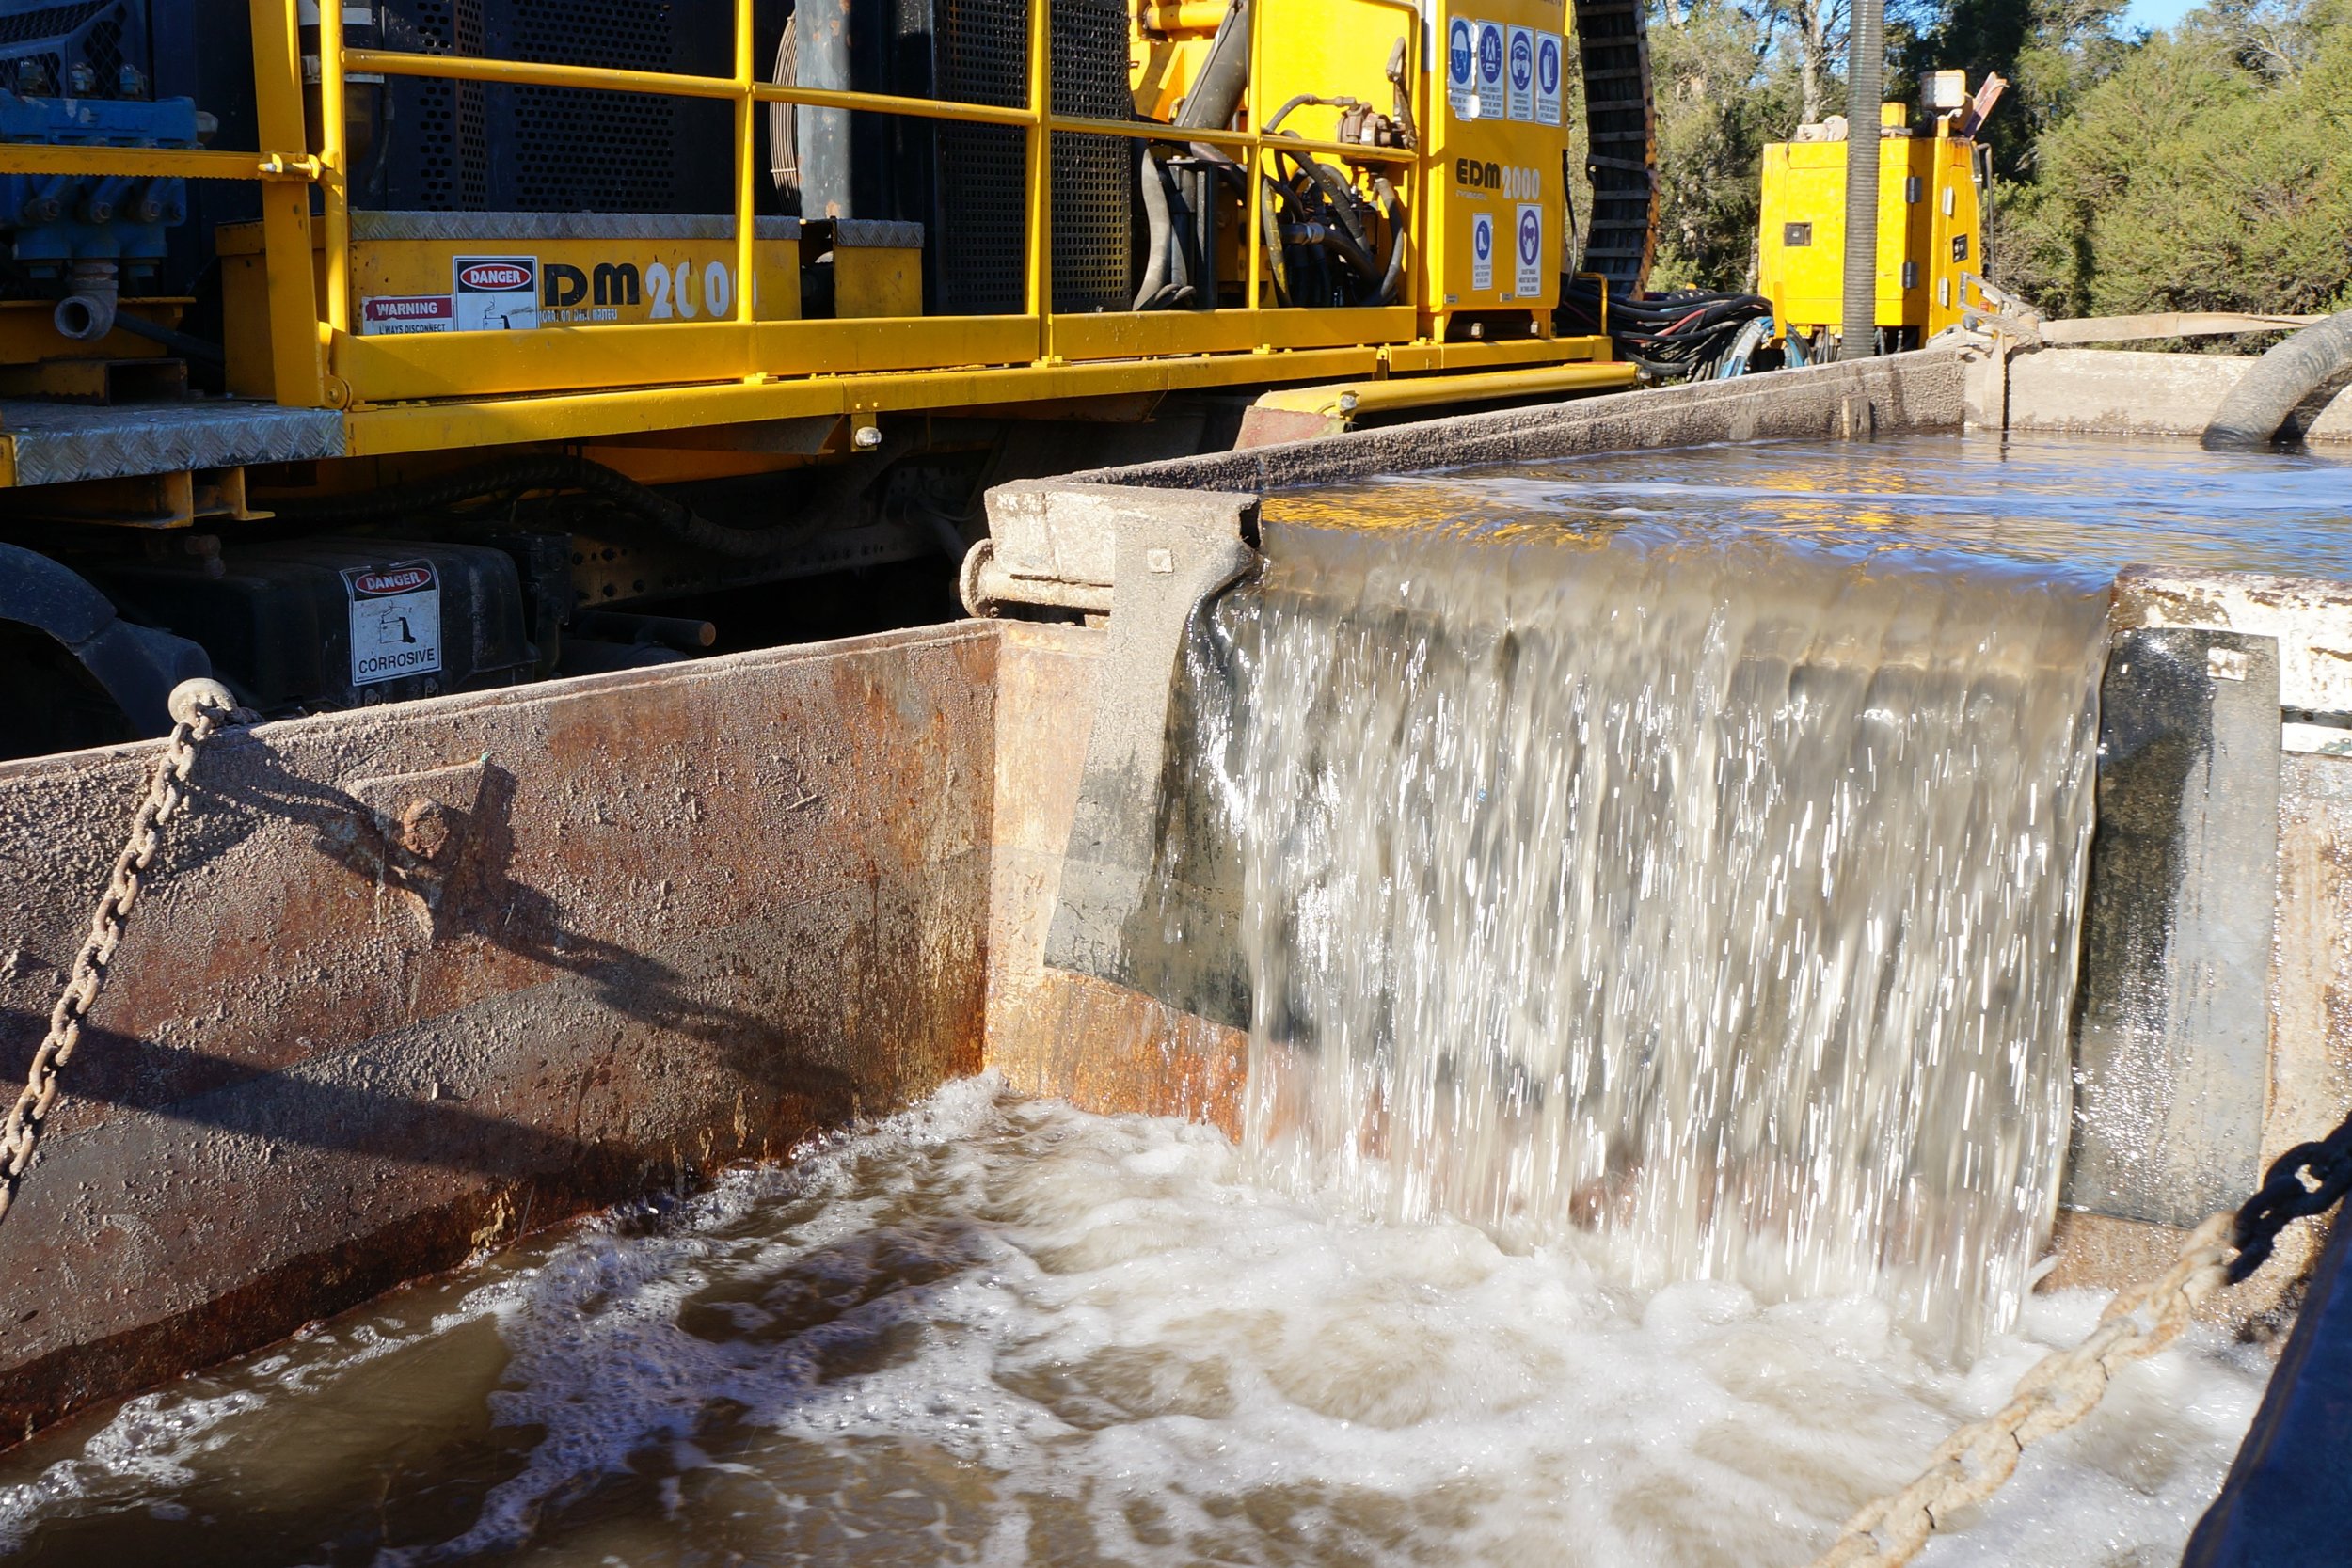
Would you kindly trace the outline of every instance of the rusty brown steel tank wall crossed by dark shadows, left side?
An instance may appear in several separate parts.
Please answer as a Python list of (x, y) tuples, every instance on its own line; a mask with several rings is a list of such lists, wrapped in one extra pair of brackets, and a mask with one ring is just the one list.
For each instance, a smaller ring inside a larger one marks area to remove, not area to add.
[[(978, 1070), (995, 668), (967, 623), (219, 738), (0, 1232), (0, 1432)], [(153, 757), (0, 766), (12, 1079)]]

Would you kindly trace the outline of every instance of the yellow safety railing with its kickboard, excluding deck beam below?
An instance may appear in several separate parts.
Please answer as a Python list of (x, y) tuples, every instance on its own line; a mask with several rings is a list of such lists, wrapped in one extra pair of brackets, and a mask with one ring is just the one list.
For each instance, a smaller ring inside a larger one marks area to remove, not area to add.
[[(1395, 9), (1406, 19), (1406, 80), (1421, 82), (1421, 26), (1411, 0), (1357, 0)], [(1049, 0), (1030, 0), (1028, 103), (1023, 108), (908, 99), (877, 92), (842, 92), (764, 82), (755, 68), (753, 0), (734, 0), (734, 75), (682, 75), (480, 59), (461, 54), (409, 54), (350, 49), (343, 45), (343, 7), (318, 2), (320, 125), (318, 153), (303, 113), (303, 49), (296, 0), (252, 0), (254, 108), (263, 153), (214, 153), (181, 148), (75, 148), (0, 146), (0, 169), (56, 174), (129, 174), (186, 179), (263, 181), (261, 240), (268, 268), (268, 341), (275, 395), (289, 407), (350, 407), (355, 402), (402, 402), (496, 393), (604, 390), (661, 383), (760, 383), (828, 371), (884, 371), (974, 364), (1030, 364), (1077, 357), (1134, 357), (1150, 353), (1270, 350), (1406, 341), (1414, 336), (1411, 306), (1268, 308), (1261, 299), (1265, 235), (1261, 202), (1244, 200), (1247, 266), (1244, 308), (1162, 310), (1145, 315), (1056, 315), (1051, 310), (1051, 139), (1056, 134), (1124, 136), (1131, 141), (1200, 141), (1232, 148), (1256, 181), (1268, 176), (1275, 148), (1388, 162), (1399, 167), (1399, 197), (1414, 233), (1409, 270), (1418, 270), (1425, 216), (1416, 181), (1421, 153), (1294, 134), (1265, 136), (1258, 61), (1268, 5), (1251, 7), (1251, 71), (1247, 89), (1249, 129), (1174, 129), (1150, 120), (1094, 120), (1056, 115), (1051, 82)], [(350, 329), (350, 186), (343, 87), (350, 75), (440, 78), (515, 87), (576, 87), (595, 92), (717, 99), (734, 103), (734, 242), (736, 277), (727, 320), (543, 327), (496, 334), (400, 334), (360, 336)], [(960, 317), (858, 317), (858, 320), (755, 320), (750, 280), (757, 233), (757, 108), (847, 108), (922, 120), (1007, 125), (1025, 132), (1025, 284), (1021, 315)], [(1418, 125), (1428, 106), (1414, 103)], [(268, 150), (282, 148), (282, 150)], [(320, 190), (313, 242), (310, 188)], [(325, 299), (313, 277), (313, 252), (325, 261)], [(1216, 327), (1204, 327), (1216, 322)]]

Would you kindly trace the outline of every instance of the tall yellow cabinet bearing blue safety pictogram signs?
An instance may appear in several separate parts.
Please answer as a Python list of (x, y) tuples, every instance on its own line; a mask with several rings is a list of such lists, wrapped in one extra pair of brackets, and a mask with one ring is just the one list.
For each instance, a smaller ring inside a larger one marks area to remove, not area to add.
[[(1531, 313), (1550, 331), (1566, 237), (1569, 31), (1559, 0), (1484, 0), (1437, 19), (1430, 103), (1432, 313)], [(1461, 334), (1449, 334), (1461, 336)]]

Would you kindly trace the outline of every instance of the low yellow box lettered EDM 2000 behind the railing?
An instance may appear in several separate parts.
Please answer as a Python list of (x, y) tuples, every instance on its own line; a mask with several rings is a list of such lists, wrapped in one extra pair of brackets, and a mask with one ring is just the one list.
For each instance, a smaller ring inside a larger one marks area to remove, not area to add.
[[(310, 230), (320, 237), (320, 226)], [(753, 317), (800, 317), (800, 219), (760, 219)], [(915, 235), (920, 244), (920, 230)], [(228, 390), (270, 395), (268, 284), (259, 223), (223, 223), (216, 249)], [(327, 287), (325, 252), (315, 256)], [(920, 270), (920, 263), (917, 263)], [(350, 329), (536, 331), (724, 317), (736, 301), (734, 219), (628, 212), (353, 212)], [(920, 277), (908, 315), (920, 310)]]

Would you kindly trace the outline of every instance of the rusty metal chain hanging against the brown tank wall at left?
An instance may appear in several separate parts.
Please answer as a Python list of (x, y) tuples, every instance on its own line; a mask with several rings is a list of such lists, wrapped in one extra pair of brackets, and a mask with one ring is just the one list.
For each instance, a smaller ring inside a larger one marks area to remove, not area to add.
[(73, 973), (66, 978), (66, 987), (49, 1011), (49, 1034), (33, 1053), (24, 1093), (16, 1095), (16, 1105), (7, 1114), (7, 1128), (0, 1131), (0, 1220), (14, 1206), (24, 1173), (33, 1168), (33, 1154), (40, 1150), (40, 1131), (56, 1107), (59, 1074), (73, 1060), (73, 1048), (82, 1039), (82, 1023), (106, 987), (106, 966), (115, 959), (115, 947), (122, 943), (122, 926), (139, 905), (139, 893), (146, 891), (146, 875), (155, 865), (155, 851), (162, 849), (162, 825), (188, 799), (188, 769), (195, 766), (195, 752), (226, 719), (242, 717), (235, 715), (233, 703), (235, 698), (228, 689), (209, 679), (181, 682), (172, 689), (172, 738), (165, 741), (162, 757), (155, 759), (155, 778), (148, 780), (146, 799), (139, 802), (139, 811), (132, 816), (129, 839), (122, 844), (122, 853), (115, 856), (115, 875), (99, 898), (99, 912), (89, 917), (89, 938), (82, 940), (82, 950), (73, 957)]

